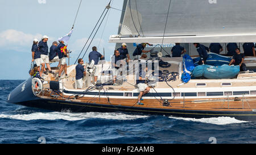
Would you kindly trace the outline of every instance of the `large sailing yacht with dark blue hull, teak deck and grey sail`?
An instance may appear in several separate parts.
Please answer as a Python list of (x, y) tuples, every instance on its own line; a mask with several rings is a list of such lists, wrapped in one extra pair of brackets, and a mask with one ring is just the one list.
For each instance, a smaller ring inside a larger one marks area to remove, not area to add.
[[(251, 5), (253, 3), (255, 0), (217, 0), (216, 3), (208, 0), (124, 0), (118, 35), (110, 36), (109, 42), (117, 43), (117, 48), (126, 42), (130, 52), (136, 44), (150, 42), (153, 46), (147, 48), (154, 48), (158, 54), (166, 53), (166, 56), (150, 57), (148, 54), (147, 58), (130, 61), (131, 71), (123, 72), (118, 79), (119, 85), (113, 85), (113, 76), (108, 72), (111, 62), (102, 61), (102, 71), (105, 72), (102, 72), (99, 81), (95, 81), (95, 85), (91, 82), (94, 66), (85, 64), (83, 89), (76, 89), (76, 65), (73, 64), (67, 67), (69, 78), (56, 80), (52, 74), (47, 75), (44, 82), (28, 78), (9, 94), (7, 102), (73, 113), (121, 111), (189, 118), (256, 120), (255, 72), (238, 72), (232, 78), (193, 78), (192, 70), (187, 70), (189, 59), (172, 58), (168, 54), (170, 49), (163, 48), (164, 44), (180, 42), (192, 57), (192, 50), (195, 50), (191, 46), (193, 42), (254, 42), (256, 12)], [(157, 65), (160, 61), (162, 64)], [(253, 57), (245, 59), (249, 66), (254, 66), (254, 61)], [(154, 76), (157, 80), (148, 78), (151, 89), (143, 96), (144, 105), (137, 105), (139, 90), (134, 71), (140, 62), (154, 64), (154, 67), (148, 67), (149, 74), (152, 75), (156, 69), (158, 71)], [(58, 70), (52, 67), (52, 71)], [(184, 73), (190, 76), (187, 82), (181, 78)]]

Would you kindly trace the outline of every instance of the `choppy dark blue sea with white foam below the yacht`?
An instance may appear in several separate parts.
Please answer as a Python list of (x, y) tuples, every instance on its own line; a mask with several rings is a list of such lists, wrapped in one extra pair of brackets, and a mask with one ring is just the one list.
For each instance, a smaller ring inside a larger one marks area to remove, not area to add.
[(232, 117), (180, 118), (128, 113), (69, 113), (5, 100), (23, 80), (0, 80), (0, 144), (256, 143), (256, 124)]

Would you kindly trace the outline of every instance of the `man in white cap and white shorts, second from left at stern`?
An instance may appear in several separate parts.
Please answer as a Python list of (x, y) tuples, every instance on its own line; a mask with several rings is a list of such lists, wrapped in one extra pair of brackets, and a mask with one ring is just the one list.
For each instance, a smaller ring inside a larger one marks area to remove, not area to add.
[[(38, 43), (38, 48), (41, 53), (41, 58), (43, 59), (44, 63), (46, 63), (46, 66), (49, 72), (53, 74), (53, 72), (51, 71), (51, 67), (49, 66), (48, 45), (47, 45), (48, 38), (49, 38), (48, 36), (44, 35), (42, 37), (42, 40)], [(48, 73), (44, 71), (44, 74), (47, 75)]]

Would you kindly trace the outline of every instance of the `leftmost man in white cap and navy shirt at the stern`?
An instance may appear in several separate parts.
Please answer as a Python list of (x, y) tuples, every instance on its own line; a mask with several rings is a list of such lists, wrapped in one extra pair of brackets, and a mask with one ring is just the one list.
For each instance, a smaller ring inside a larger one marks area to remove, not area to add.
[(35, 61), (36, 66), (40, 66), (42, 64), (41, 71), (40, 71), (40, 76), (42, 76), (42, 73), (44, 71), (44, 62), (43, 62), (43, 59), (40, 57), (41, 54), (38, 48), (38, 39), (36, 38), (33, 41), (31, 51), (32, 51), (32, 62)]

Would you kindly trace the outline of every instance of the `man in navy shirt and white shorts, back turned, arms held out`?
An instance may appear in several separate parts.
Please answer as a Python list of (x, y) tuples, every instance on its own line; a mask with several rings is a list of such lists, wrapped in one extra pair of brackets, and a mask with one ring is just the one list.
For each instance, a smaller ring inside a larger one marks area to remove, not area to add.
[(94, 61), (94, 65), (96, 66), (96, 72), (94, 74), (94, 82), (97, 81), (97, 78), (98, 76), (101, 75), (101, 66), (98, 65), (98, 60), (101, 58), (104, 58), (104, 55), (101, 55), (98, 51), (97, 51), (97, 48), (96, 46), (93, 46), (92, 47), (92, 50), (90, 53), (89, 53), (89, 63), (92, 62), (92, 60)]

